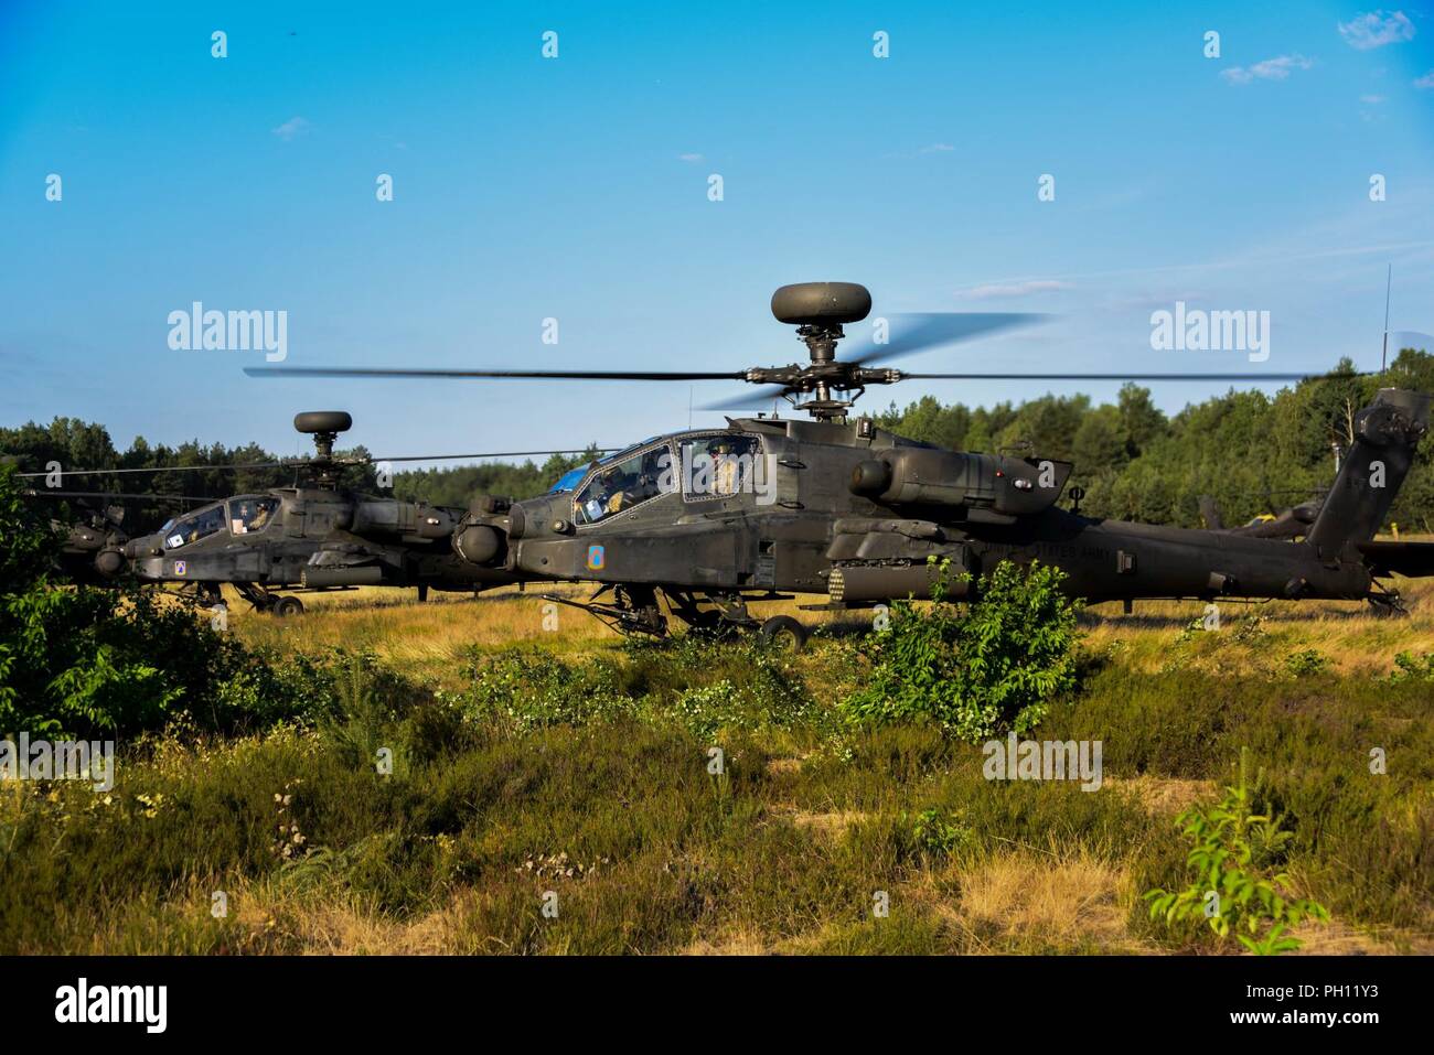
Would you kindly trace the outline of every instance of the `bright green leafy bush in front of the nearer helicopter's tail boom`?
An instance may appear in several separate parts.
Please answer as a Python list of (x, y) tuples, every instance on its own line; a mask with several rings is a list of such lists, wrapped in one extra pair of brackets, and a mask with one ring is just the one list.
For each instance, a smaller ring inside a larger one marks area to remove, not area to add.
[(929, 721), (978, 743), (1035, 727), (1051, 700), (1076, 685), (1076, 614), (1057, 568), (1002, 560), (977, 582), (975, 601), (945, 601), (944, 566), (929, 608), (892, 605), (872, 636), (866, 684), (845, 708), (859, 721)]

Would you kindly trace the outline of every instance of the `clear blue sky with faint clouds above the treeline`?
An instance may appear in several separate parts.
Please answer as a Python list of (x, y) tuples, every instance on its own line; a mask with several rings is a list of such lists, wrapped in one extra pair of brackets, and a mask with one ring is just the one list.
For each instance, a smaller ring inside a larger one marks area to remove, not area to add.
[(354, 441), (404, 454), (688, 421), (685, 384), (248, 378), (261, 353), (168, 347), (192, 301), (287, 311), (290, 366), (782, 364), (804, 350), (771, 290), (843, 280), (878, 314), (1058, 315), (909, 370), (1258, 368), (1152, 351), (1176, 300), (1269, 311), (1263, 368), (1377, 367), (1387, 265), (1394, 328), (1434, 331), (1431, 14), (0, 0), (0, 423), (288, 453), (295, 411), (343, 407)]

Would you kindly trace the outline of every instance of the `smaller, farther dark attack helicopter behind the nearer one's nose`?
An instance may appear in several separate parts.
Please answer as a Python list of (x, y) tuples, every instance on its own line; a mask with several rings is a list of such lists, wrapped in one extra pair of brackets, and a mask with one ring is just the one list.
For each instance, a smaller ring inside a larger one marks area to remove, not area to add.
[[(307, 480), (260, 495), (205, 500), (206, 505), (143, 538), (126, 540), (110, 532), (102, 539), (99, 528), (93, 528), (79, 542), (72, 532), (70, 545), (100, 548), (95, 560), (106, 576), (118, 575), (128, 562), (142, 581), (182, 583), (214, 602), (221, 599), (219, 585), (231, 583), (254, 608), (278, 616), (304, 609), (293, 592), (274, 592), (284, 588), (417, 586), (422, 601), (430, 588), (478, 592), (512, 581), (500, 568), (476, 565), (453, 552), (453, 529), (465, 510), (361, 495), (340, 486), (341, 470), (350, 464), (489, 454), (343, 457), (334, 454), (334, 441), (353, 427), (347, 413), (303, 413), (294, 417), (294, 427), (313, 434), (314, 457), (178, 469), (293, 467)], [(572, 453), (584, 452), (499, 452), (493, 457)], [(66, 476), (113, 472), (171, 470), (76, 470)]]

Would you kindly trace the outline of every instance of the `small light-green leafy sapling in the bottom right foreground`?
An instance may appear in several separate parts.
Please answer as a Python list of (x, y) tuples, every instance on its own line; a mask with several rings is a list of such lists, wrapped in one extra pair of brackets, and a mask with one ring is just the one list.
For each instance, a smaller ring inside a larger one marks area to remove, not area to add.
[(1291, 926), (1329, 919), (1318, 902), (1289, 897), (1289, 876), (1276, 869), (1293, 834), (1281, 827), (1279, 817), (1255, 813), (1258, 791), (1246, 780), (1246, 753), (1240, 751), (1239, 784), (1226, 787), (1219, 803), (1192, 807), (1176, 818), (1192, 847), (1186, 864), (1195, 880), (1183, 890), (1147, 892), (1152, 919), (1189, 927), (1203, 917), (1220, 939), (1233, 933), (1260, 956), (1298, 949)]

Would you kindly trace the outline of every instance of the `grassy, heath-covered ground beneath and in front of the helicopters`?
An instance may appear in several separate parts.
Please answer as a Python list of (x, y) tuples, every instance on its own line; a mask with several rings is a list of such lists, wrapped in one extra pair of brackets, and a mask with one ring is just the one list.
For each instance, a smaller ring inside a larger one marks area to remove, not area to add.
[(1189, 629), (1195, 603), (1087, 614), (1081, 689), (1032, 735), (1103, 741), (1091, 793), (845, 725), (862, 625), (793, 602), (760, 614), (823, 625), (799, 657), (634, 649), (516, 591), (235, 602), (250, 644), (410, 684), (356, 677), (318, 728), (122, 745), (108, 796), (0, 787), (0, 952), (1213, 952), (1141, 893), (1183, 883), (1173, 818), (1242, 748), (1293, 831), (1292, 892), (1332, 913), (1305, 949), (1430, 952), (1434, 682), (1390, 674), (1434, 652), (1434, 588), (1408, 596), (1400, 621), (1226, 605), (1219, 632)]

